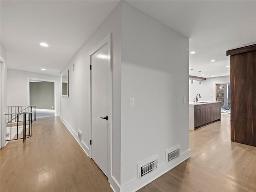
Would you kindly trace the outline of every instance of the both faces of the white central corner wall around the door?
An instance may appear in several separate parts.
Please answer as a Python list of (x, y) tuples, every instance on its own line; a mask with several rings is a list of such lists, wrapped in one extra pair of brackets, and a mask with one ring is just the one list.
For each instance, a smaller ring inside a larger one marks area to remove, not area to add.
[[(61, 98), (61, 118), (76, 138), (78, 129), (87, 134), (87, 140), (83, 137), (78, 142), (88, 154), (90, 51), (110, 32), (113, 167), (108, 179), (116, 192), (131, 192), (190, 156), (188, 103), (183, 104), (184, 97), (188, 102), (189, 40), (126, 2), (110, 13), (61, 72), (70, 71), (70, 92), (68, 98)], [(129, 98), (135, 98), (133, 109)], [(177, 144), (181, 145), (180, 158), (166, 164), (165, 150)], [(159, 169), (138, 179), (137, 164), (154, 154), (160, 156)]]

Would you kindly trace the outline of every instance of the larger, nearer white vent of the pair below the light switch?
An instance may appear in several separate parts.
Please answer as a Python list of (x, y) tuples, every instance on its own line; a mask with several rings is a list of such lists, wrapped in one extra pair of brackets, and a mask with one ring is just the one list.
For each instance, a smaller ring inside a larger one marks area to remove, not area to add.
[(138, 164), (139, 178), (142, 178), (158, 168), (158, 155)]

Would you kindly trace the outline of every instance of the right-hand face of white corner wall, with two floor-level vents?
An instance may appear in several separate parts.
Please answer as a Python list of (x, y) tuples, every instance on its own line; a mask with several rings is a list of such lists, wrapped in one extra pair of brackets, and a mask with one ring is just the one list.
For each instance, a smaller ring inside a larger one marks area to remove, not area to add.
[[(135, 191), (190, 157), (187, 73), (189, 39), (140, 10), (122, 9), (121, 185)], [(178, 83), (177, 83), (178, 82)], [(129, 108), (135, 98), (135, 108)], [(180, 145), (180, 158), (165, 150)], [(159, 155), (158, 170), (138, 178), (137, 164)]]

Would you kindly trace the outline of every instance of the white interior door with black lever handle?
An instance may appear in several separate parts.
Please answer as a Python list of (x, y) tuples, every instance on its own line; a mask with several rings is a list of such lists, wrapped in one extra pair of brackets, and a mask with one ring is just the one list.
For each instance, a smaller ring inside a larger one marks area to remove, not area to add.
[[(91, 55), (92, 159), (108, 176), (108, 46)], [(104, 118), (104, 119), (103, 119)]]

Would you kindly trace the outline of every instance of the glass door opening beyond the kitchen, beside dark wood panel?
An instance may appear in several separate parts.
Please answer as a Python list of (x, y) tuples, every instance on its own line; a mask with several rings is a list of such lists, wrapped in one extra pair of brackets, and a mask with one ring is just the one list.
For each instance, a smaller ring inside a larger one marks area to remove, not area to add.
[(230, 113), (230, 84), (216, 84), (216, 101), (220, 101), (222, 113)]

